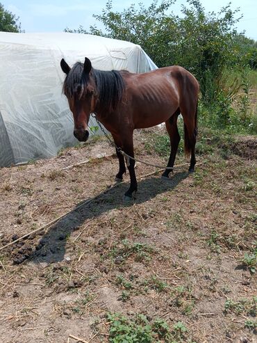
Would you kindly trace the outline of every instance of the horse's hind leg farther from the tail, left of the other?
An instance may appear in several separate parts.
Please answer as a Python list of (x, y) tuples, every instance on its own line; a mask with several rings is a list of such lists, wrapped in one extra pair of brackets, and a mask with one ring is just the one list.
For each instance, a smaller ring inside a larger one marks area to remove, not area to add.
[[(169, 154), (169, 161), (167, 163), (167, 167), (173, 167), (174, 166), (174, 161), (176, 159), (176, 152), (178, 150), (179, 146), (179, 141), (181, 140), (181, 137), (179, 136), (179, 130), (178, 126), (176, 124), (176, 121), (178, 119), (178, 116), (180, 114), (180, 110), (177, 109), (177, 111), (172, 115), (167, 122), (165, 122), (167, 132), (169, 134), (169, 139), (170, 139), (170, 147), (171, 151)], [(169, 173), (171, 172), (171, 169), (165, 169), (165, 172), (163, 173), (163, 177), (169, 177)]]

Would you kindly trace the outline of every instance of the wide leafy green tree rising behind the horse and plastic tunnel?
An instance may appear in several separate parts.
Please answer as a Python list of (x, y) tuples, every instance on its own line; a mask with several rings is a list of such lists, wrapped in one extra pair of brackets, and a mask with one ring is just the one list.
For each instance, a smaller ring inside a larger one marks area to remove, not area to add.
[(188, 6), (182, 6), (179, 17), (172, 12), (175, 1), (154, 0), (149, 8), (140, 3), (119, 13), (113, 11), (110, 0), (101, 15), (94, 15), (105, 32), (97, 26), (90, 26), (89, 32), (80, 26), (73, 32), (138, 44), (158, 67), (182, 65), (199, 80), (204, 101), (214, 102), (224, 69), (235, 61), (238, 10), (231, 10), (229, 4), (218, 13), (206, 13), (199, 0), (187, 0)]

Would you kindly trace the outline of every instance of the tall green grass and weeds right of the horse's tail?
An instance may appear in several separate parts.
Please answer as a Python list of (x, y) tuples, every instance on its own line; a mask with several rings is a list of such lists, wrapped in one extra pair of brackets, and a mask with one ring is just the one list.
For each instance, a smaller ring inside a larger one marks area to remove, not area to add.
[(257, 70), (248, 67), (225, 70), (210, 82), (210, 102), (200, 101), (200, 121), (216, 129), (257, 134)]

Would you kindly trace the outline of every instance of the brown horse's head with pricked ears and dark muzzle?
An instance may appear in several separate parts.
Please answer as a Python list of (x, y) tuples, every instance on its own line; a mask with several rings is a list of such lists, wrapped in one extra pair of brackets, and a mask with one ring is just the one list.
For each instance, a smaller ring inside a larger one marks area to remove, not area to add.
[(69, 102), (69, 109), (74, 117), (74, 136), (78, 141), (88, 141), (88, 121), (94, 111), (94, 79), (91, 75), (92, 65), (88, 58), (85, 62), (77, 62), (72, 68), (60, 61), (60, 67), (66, 74), (63, 83), (63, 93)]

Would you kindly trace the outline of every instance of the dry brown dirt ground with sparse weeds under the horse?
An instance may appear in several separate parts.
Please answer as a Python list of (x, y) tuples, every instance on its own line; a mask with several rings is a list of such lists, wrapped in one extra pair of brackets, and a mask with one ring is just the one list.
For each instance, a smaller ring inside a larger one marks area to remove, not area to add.
[[(165, 164), (144, 149), (149, 135), (136, 134), (135, 154)], [(198, 161), (166, 181), (137, 163), (133, 203), (128, 183), (110, 189), (117, 160), (103, 139), (1, 168), (0, 248), (65, 216), (0, 250), (0, 342), (121, 342), (114, 312), (186, 328), (158, 342), (257, 342), (256, 141)]]

